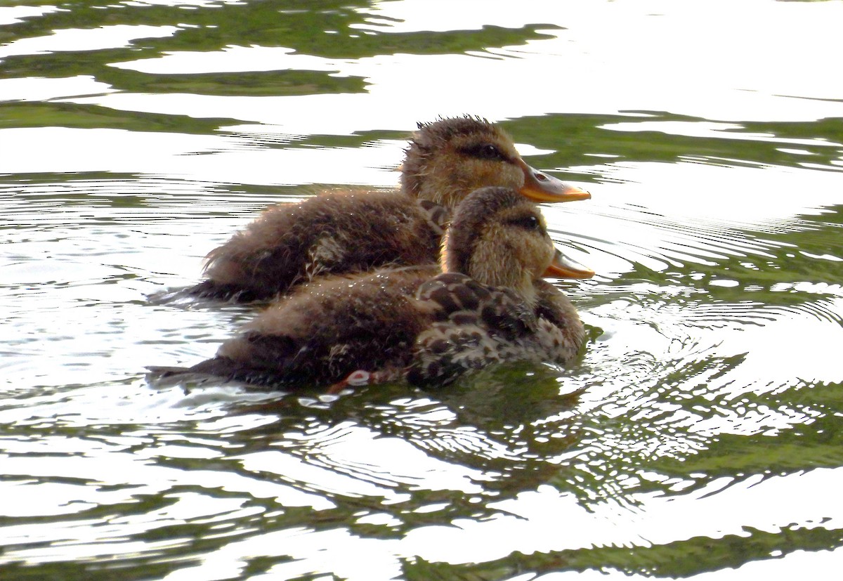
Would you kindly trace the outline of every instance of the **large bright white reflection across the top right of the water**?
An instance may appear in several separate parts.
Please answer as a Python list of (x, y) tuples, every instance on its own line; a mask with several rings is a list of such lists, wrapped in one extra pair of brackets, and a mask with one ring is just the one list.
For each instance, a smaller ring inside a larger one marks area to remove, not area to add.
[[(373, 126), (411, 127), (420, 119), (466, 110), (502, 120), (513, 116), (512, 103), (518, 103), (518, 116), (624, 110), (668, 110), (721, 121), (843, 116), (843, 104), (836, 100), (843, 90), (839, 76), (805, 66), (815, 55), (843, 52), (843, 38), (836, 34), (843, 8), (840, 3), (815, 3), (808, 16), (803, 7), (793, 4), (756, 0), (740, 7), (717, 3), (720, 8), (716, 8), (706, 3), (701, 8), (698, 3), (523, 3), (516, 22), (566, 28), (543, 30), (550, 38), (497, 50), (502, 56), (497, 59), (467, 54), (338, 59), (285, 47), (250, 46), (178, 51), (114, 64), (158, 74), (325, 71), (365, 78), (366, 94), (219, 98), (121, 93), (68, 100), (121, 110), (260, 121), (279, 126), (280, 132), (331, 134)], [(448, 27), (513, 26), (502, 4), (495, 6), (497, 10), (486, 4), (481, 10), (449, 7)], [(379, 32), (392, 26), (396, 30), (441, 28), (441, 24), (428, 28), (422, 15), (429, 9), (416, 3), (379, 4), (379, 14), (389, 16), (391, 10), (412, 13), (412, 18), (405, 19), (411, 24), (379, 26)], [(764, 26), (757, 25), (759, 19)], [(717, 42), (711, 41), (712, 34)], [(799, 37), (798, 46), (771, 40), (793, 35)], [(472, 74), (464, 74), (465, 70)], [(524, 82), (530, 80), (555, 89), (533, 90), (524, 99)], [(480, 99), (485, 94), (493, 98)], [(353, 116), (346, 114), (349, 110)]]

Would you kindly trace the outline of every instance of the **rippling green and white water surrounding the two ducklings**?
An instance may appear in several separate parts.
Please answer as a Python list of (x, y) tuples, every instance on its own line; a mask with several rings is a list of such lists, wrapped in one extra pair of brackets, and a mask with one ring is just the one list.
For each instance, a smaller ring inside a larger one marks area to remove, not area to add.
[[(828, 578), (843, 546), (840, 2), (0, 7), (0, 577)], [(587, 187), (570, 369), (435, 393), (148, 385), (156, 304), (416, 121)]]

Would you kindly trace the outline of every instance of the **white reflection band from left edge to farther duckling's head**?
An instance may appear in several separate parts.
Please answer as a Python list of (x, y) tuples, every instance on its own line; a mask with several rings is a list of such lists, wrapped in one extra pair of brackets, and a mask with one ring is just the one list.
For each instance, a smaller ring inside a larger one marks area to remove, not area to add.
[[(292, 141), (291, 136), (277, 137)], [(226, 134), (60, 127), (0, 129), (0, 140), (16, 144), (3, 152), (0, 169), (21, 173), (108, 170), (200, 182), (297, 186), (396, 186), (395, 168), (406, 147), (404, 141), (379, 141), (367, 148), (267, 149)], [(68, 143), (73, 147), (68, 149)]]

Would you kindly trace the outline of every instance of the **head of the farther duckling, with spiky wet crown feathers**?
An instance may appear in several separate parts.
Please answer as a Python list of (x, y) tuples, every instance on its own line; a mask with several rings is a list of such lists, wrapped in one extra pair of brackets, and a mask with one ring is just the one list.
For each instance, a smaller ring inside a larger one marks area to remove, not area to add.
[(531, 168), (512, 137), (479, 117), (419, 123), (401, 168), (403, 190), (421, 200), (456, 207), (484, 186), (513, 188), (535, 202), (571, 202), (591, 197)]

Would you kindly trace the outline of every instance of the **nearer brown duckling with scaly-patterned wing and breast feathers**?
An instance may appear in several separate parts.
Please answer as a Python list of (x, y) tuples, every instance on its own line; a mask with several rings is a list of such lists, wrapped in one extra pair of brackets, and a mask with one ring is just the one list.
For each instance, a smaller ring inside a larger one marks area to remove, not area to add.
[(486, 187), (462, 202), (439, 265), (326, 277), (303, 285), (191, 368), (265, 388), (339, 390), (392, 379), (445, 385), (490, 363), (568, 363), (585, 332), (544, 275), (584, 278), (566, 264), (545, 219), (518, 191)]

